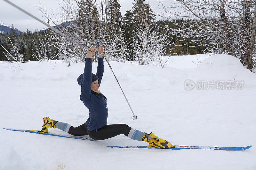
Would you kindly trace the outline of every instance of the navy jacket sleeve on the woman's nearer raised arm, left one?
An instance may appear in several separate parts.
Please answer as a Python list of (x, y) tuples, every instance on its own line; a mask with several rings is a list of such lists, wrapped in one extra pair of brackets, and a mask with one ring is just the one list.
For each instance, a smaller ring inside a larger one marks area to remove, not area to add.
[(92, 87), (92, 59), (85, 59), (84, 67), (84, 79), (81, 88), (81, 94), (85, 101), (90, 101), (91, 98), (91, 87)]

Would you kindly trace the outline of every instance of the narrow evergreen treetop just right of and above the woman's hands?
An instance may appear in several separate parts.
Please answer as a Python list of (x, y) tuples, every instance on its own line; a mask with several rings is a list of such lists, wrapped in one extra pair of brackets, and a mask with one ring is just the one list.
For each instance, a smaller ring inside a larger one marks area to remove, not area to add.
[(108, 23), (110, 25), (120, 25), (123, 20), (122, 14), (120, 12), (121, 5), (119, 0), (109, 0), (108, 6)]

